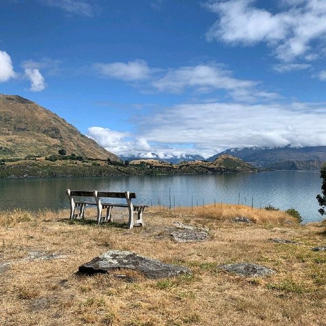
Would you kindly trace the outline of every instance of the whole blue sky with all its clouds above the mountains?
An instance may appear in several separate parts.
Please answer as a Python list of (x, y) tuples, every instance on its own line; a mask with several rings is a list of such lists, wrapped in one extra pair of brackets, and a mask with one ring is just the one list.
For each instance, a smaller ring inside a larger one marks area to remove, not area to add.
[(326, 0), (2, 0), (0, 92), (116, 154), (326, 145)]

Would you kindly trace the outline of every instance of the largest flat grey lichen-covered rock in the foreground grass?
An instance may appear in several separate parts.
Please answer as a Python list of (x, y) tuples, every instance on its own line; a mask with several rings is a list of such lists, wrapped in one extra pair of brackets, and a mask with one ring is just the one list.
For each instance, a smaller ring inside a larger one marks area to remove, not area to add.
[(156, 259), (121, 250), (110, 250), (93, 258), (90, 262), (79, 266), (79, 272), (85, 274), (106, 273), (121, 268), (138, 270), (150, 279), (174, 277), (180, 274), (192, 275), (192, 271), (186, 267), (166, 264)]

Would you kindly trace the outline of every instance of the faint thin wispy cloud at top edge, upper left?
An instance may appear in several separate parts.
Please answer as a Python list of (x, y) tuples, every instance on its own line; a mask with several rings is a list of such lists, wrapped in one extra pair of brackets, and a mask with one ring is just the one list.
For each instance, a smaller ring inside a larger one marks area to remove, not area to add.
[(41, 0), (42, 3), (49, 7), (60, 8), (71, 14), (80, 16), (93, 17), (95, 10), (88, 1), (80, 0)]

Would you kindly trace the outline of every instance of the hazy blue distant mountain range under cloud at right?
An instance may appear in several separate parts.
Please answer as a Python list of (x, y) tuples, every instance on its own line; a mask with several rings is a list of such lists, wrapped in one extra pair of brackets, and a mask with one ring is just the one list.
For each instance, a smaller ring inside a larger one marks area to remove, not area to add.
[(274, 170), (318, 170), (326, 161), (326, 146), (227, 149), (209, 157), (213, 161), (232, 154), (250, 164)]

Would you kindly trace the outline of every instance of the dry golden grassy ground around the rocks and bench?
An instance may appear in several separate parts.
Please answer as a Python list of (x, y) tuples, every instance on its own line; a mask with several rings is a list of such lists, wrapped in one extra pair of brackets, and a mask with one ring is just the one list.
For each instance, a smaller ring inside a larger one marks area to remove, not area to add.
[[(121, 212), (118, 212), (121, 215)], [(91, 216), (70, 222), (67, 211), (0, 213), (1, 325), (326, 325), (326, 253), (320, 224), (285, 224), (280, 211), (220, 205), (144, 213), (146, 227), (116, 223), (98, 227)], [(248, 216), (256, 223), (229, 219)], [(124, 212), (124, 222), (126, 215)], [(174, 221), (208, 228), (211, 239), (175, 243)], [(293, 219), (292, 219), (293, 221)], [(294, 221), (293, 221), (294, 222)], [(268, 238), (302, 244), (278, 244)], [(147, 280), (133, 271), (78, 275), (78, 266), (110, 249), (129, 250), (191, 268), (193, 277)], [(19, 260), (31, 251), (66, 255), (52, 260)], [(241, 278), (216, 269), (248, 261), (273, 268), (265, 278)]]

